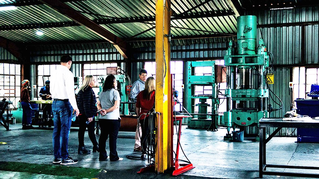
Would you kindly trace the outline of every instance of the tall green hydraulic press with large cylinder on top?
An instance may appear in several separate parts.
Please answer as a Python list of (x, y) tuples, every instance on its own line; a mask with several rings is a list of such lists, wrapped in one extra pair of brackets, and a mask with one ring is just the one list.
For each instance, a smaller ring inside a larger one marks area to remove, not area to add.
[(237, 49), (232, 41), (224, 56), (227, 67), (227, 102), (224, 122), (227, 127), (225, 140), (230, 138), (230, 127), (257, 125), (268, 117), (268, 89), (265, 68), (269, 67), (269, 56), (263, 39), (256, 50), (256, 16), (237, 17)]

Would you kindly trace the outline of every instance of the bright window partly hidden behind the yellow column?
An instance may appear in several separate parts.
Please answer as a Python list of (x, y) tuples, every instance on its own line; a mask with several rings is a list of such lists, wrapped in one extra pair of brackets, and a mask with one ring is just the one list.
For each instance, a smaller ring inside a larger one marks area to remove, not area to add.
[[(173, 87), (178, 91), (178, 101), (183, 104), (183, 62), (182, 61), (171, 61), (171, 74), (173, 74)], [(156, 73), (156, 62), (145, 62), (144, 69), (147, 71), (147, 76), (155, 78)], [(182, 107), (179, 103), (175, 105), (176, 111), (181, 111)]]

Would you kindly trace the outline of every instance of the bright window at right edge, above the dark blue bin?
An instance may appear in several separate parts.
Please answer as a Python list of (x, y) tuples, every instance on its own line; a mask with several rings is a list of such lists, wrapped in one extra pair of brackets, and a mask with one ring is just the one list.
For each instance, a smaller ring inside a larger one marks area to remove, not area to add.
[[(319, 84), (319, 68), (293, 68), (293, 99), (308, 98), (312, 84)], [(295, 104), (295, 103), (294, 103)]]

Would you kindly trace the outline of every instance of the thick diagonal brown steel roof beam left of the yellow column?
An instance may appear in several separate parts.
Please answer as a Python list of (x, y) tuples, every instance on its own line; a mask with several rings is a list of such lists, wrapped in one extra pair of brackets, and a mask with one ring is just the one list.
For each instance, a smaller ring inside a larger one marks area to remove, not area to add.
[(90, 31), (99, 35), (101, 38), (109, 41), (114, 45), (114, 47), (120, 52), (120, 54), (124, 57), (124, 59), (128, 58), (127, 49), (130, 48), (130, 45), (110, 31), (104, 29), (99, 24), (94, 23), (91, 19), (85, 17), (79, 12), (74, 11), (68, 5), (64, 4), (58, 0), (40, 0), (42, 3), (48, 5), (54, 10), (60, 12), (61, 14), (69, 17), (73, 21), (77, 22), (80, 25), (85, 26)]

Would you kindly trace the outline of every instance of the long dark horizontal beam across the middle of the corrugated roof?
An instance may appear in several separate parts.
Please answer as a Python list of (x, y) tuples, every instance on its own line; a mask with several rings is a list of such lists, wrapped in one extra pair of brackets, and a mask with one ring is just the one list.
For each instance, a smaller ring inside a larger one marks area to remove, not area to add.
[[(232, 16), (235, 15), (234, 11), (225, 10), (225, 11), (210, 11), (210, 12), (199, 12), (199, 13), (191, 13), (184, 15), (177, 15), (176, 17), (171, 17), (171, 20), (177, 19), (196, 19), (196, 18), (208, 18), (208, 17), (222, 17), (222, 16)], [(123, 23), (132, 23), (132, 22), (154, 22), (155, 17), (132, 17), (132, 18), (114, 18), (114, 19), (105, 19), (105, 20), (94, 20), (93, 22), (96, 24), (123, 24)], [(155, 23), (151, 23), (154, 24)], [(22, 24), (22, 25), (7, 25), (0, 26), (0, 31), (4, 30), (23, 30), (23, 29), (37, 29), (37, 28), (57, 28), (57, 27), (71, 27), (71, 26), (79, 26), (80, 24), (76, 22), (59, 22), (59, 23), (44, 23), (44, 24)]]

